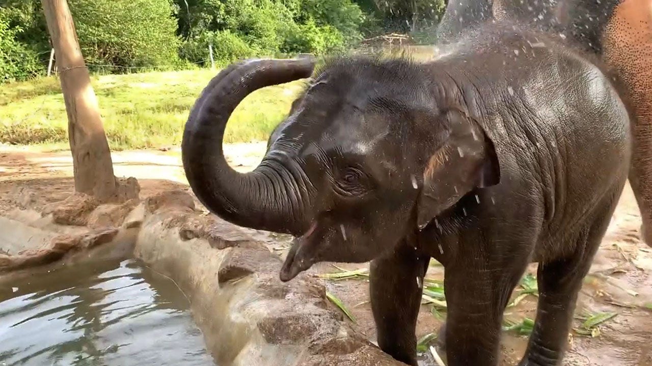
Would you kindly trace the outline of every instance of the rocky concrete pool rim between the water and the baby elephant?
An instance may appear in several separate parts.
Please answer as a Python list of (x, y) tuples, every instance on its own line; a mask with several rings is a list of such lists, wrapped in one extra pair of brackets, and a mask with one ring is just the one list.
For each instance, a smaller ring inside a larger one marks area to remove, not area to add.
[(190, 298), (218, 365), (403, 365), (356, 333), (318, 281), (282, 283), (278, 255), (188, 204), (146, 209), (134, 254)]

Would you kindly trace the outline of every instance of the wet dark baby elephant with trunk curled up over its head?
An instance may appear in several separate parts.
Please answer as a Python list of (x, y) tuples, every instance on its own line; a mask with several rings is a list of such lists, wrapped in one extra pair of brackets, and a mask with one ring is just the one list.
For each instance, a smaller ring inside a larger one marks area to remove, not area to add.
[[(262, 162), (222, 139), (250, 92), (309, 77)], [(486, 25), (427, 63), (252, 60), (220, 72), (183, 135), (190, 186), (221, 218), (296, 238), (289, 281), (319, 261), (372, 260), (380, 348), (417, 365), (431, 257), (445, 267), (449, 366), (494, 366), (527, 264), (539, 309), (521, 366), (561, 362), (582, 279), (630, 165), (629, 113), (597, 63), (546, 35)]]

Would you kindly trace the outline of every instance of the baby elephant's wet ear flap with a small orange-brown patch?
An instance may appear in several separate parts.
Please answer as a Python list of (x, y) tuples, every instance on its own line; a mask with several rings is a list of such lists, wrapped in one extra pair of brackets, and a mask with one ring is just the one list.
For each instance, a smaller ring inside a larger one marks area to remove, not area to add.
[(461, 111), (440, 116), (449, 128), (443, 146), (430, 156), (417, 202), (417, 225), (423, 229), (475, 188), (498, 184), (500, 167), (494, 143), (481, 126)]

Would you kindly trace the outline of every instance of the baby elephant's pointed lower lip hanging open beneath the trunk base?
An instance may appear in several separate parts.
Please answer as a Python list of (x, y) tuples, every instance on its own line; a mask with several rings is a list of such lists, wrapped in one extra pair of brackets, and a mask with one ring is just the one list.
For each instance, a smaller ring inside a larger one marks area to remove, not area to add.
[(312, 234), (317, 229), (317, 221), (312, 223), (310, 229), (299, 238), (292, 240), (292, 247), (289, 249), (288, 257), (280, 270), (280, 279), (287, 282), (298, 274), (307, 270), (316, 262), (316, 246), (319, 245), (319, 240), (314, 240)]

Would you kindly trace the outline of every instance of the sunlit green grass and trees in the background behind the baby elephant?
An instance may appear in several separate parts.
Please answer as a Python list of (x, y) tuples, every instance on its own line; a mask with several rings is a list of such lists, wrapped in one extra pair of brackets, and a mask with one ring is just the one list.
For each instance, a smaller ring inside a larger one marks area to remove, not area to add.
[[(355, 49), (387, 33), (432, 44), (444, 0), (68, 0), (112, 149), (177, 145), (188, 110), (218, 68), (245, 57)], [(417, 46), (418, 48), (418, 46)], [(0, 144), (67, 147), (40, 0), (0, 0)], [(423, 46), (416, 53), (430, 56)], [(415, 53), (413, 50), (411, 53)], [(419, 55), (417, 55), (419, 57)], [(227, 126), (228, 143), (261, 141), (301, 81), (254, 92)]]

